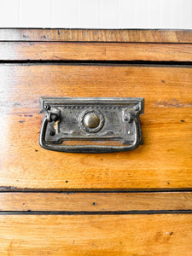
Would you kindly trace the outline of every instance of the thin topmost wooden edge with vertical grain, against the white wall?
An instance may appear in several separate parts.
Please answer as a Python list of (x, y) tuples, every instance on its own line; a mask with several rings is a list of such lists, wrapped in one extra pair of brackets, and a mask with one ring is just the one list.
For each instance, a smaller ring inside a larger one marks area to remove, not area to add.
[(192, 30), (0, 28), (0, 41), (192, 43)]

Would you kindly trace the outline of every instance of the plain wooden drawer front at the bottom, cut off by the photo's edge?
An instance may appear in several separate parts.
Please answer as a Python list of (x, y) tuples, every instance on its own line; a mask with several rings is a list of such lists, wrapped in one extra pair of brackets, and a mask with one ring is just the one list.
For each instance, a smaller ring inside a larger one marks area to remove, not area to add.
[(0, 216), (1, 255), (192, 254), (192, 214)]

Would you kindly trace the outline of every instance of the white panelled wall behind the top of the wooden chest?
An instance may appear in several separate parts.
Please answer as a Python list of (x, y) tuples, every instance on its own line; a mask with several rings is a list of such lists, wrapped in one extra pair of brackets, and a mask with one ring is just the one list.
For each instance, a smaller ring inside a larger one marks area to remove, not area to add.
[(192, 29), (192, 0), (0, 0), (0, 27)]

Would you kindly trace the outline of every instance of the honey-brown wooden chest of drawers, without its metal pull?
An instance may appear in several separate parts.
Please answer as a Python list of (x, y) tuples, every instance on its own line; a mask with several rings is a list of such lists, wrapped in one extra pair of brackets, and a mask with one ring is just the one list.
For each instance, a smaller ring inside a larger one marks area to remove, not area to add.
[[(0, 254), (192, 255), (192, 32), (2, 29), (0, 41)], [(143, 145), (45, 150), (41, 96), (143, 97)]]

